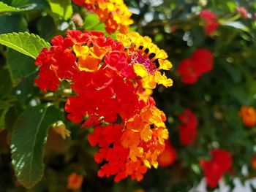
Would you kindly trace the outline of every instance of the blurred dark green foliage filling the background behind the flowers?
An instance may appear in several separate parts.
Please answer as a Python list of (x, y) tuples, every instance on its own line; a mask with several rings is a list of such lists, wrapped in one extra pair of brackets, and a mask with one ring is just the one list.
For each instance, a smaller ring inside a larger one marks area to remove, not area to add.
[[(104, 24), (99, 23), (96, 15), (69, 0), (1, 2), (12, 10), (0, 12), (0, 34), (29, 31), (49, 42), (58, 34), (64, 35), (67, 29), (104, 31)], [(189, 191), (203, 178), (200, 159), (209, 158), (208, 152), (217, 147), (230, 151), (233, 158), (232, 174), (224, 177), (230, 191), (234, 178), (244, 183), (256, 176), (251, 166), (256, 153), (256, 127), (246, 128), (238, 116), (241, 105), (256, 107), (256, 1), (127, 0), (126, 3), (135, 20), (132, 30), (151, 37), (173, 63), (173, 69), (167, 72), (174, 81), (173, 87), (159, 86), (154, 98), (167, 115), (170, 142), (177, 153), (175, 163), (149, 170), (140, 183), (130, 179), (120, 183), (113, 183), (113, 178), (101, 179), (97, 177), (99, 167), (93, 158), (96, 149), (87, 141), (91, 130), (64, 120), (71, 137), (64, 140), (50, 128), (45, 175), (34, 188), (23, 188), (11, 165), (13, 123), (21, 112), (37, 104), (53, 101), (56, 106), (64, 107), (66, 97), (61, 88), (45, 96), (34, 85), (37, 76), (34, 60), (0, 45), (0, 191), (68, 191), (67, 177), (71, 172), (83, 174), (81, 191)], [(236, 12), (239, 6), (246, 7), (247, 18)], [(219, 18), (220, 26), (211, 37), (206, 36), (198, 16), (202, 9), (210, 9)], [(74, 19), (75, 13), (81, 20)], [(214, 69), (195, 84), (184, 85), (176, 72), (177, 66), (198, 48), (214, 53)], [(178, 136), (178, 115), (184, 108), (195, 112), (198, 119), (197, 139), (188, 146), (181, 145)]]

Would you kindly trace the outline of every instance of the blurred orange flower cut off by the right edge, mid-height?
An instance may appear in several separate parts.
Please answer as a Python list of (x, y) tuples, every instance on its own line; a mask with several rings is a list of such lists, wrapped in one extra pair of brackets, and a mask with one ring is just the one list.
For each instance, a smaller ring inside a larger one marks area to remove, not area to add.
[(239, 112), (239, 116), (242, 118), (244, 126), (252, 127), (256, 124), (256, 111), (253, 107), (242, 106)]

